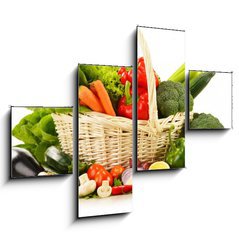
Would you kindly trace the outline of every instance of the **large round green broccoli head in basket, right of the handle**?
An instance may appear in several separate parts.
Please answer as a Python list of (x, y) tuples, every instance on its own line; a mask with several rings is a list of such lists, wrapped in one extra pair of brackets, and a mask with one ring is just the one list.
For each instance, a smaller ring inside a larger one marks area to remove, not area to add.
[[(190, 94), (190, 111), (193, 109), (193, 97)], [(168, 117), (185, 111), (185, 88), (181, 83), (162, 82), (157, 89), (157, 105), (159, 117)]]

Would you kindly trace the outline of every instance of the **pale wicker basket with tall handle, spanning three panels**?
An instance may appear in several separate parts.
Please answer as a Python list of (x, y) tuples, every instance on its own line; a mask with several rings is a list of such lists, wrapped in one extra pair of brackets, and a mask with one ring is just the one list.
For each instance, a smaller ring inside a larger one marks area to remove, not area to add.
[[(158, 119), (156, 86), (147, 43), (139, 31), (139, 43), (145, 59), (148, 79), (149, 120), (138, 121), (138, 160), (154, 162), (165, 159), (169, 145), (168, 131), (174, 125), (172, 139), (178, 138), (185, 122), (185, 114), (177, 113)], [(72, 117), (53, 114), (63, 151), (72, 155)], [(68, 136), (69, 135), (69, 136)], [(89, 112), (79, 114), (79, 159), (95, 161), (106, 169), (114, 165), (129, 167), (132, 159), (133, 124), (124, 117)]]

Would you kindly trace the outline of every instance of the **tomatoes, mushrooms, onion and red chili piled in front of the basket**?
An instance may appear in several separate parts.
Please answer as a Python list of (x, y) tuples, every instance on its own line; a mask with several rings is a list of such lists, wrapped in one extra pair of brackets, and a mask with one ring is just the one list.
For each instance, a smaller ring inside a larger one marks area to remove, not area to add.
[(117, 165), (107, 171), (97, 163), (84, 166), (81, 163), (79, 168), (80, 198), (106, 198), (132, 192), (132, 168)]

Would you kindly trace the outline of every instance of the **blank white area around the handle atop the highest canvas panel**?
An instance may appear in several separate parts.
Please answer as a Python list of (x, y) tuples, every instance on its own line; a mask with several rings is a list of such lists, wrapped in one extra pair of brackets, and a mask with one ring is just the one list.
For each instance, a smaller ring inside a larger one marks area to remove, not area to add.
[[(185, 32), (138, 27), (148, 44), (152, 65), (161, 81), (185, 63)], [(184, 30), (184, 29), (180, 29)], [(138, 41), (138, 57), (143, 56)]]

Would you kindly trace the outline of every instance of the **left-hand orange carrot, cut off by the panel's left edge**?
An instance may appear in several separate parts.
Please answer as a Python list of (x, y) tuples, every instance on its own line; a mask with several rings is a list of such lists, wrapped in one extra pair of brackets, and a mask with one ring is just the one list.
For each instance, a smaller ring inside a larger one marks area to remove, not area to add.
[(79, 99), (93, 111), (104, 113), (104, 108), (102, 107), (100, 100), (86, 86), (81, 85), (79, 87)]

